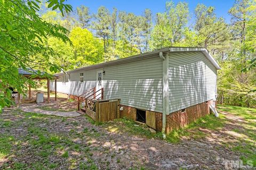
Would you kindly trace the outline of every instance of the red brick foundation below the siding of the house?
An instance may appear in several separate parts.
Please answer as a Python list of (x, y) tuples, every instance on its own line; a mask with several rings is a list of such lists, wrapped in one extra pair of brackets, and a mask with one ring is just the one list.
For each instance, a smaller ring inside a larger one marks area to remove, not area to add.
[[(198, 118), (210, 114), (209, 105), (213, 104), (213, 100), (209, 100), (203, 102), (201, 104), (197, 104), (194, 106), (190, 106), (185, 109), (184, 112), (178, 111), (174, 113), (170, 113), (166, 115), (166, 128), (165, 133), (169, 134), (174, 129), (179, 129), (184, 127), (185, 125), (196, 121)], [(124, 106), (123, 111), (120, 112), (121, 117), (127, 117), (132, 120), (136, 120), (136, 108)], [(156, 118), (156, 130), (162, 131), (162, 113), (153, 112), (155, 113)]]

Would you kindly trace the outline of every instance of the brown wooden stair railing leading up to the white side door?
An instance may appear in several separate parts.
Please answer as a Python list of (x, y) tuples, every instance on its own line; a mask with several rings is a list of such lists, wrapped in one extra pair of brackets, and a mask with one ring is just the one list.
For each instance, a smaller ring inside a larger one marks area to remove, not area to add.
[[(97, 95), (98, 92), (99, 92), (99, 94)], [(83, 97), (78, 96), (78, 99), (77, 99), (78, 111), (80, 110), (80, 104), (83, 103), (83, 101), (85, 101), (85, 111), (87, 108), (89, 108), (91, 111), (93, 111), (93, 109), (95, 107), (95, 102), (93, 100), (103, 99), (103, 92), (104, 92), (103, 88), (101, 88), (97, 91), (95, 91), (95, 88), (94, 88), (93, 94), (89, 93)]]

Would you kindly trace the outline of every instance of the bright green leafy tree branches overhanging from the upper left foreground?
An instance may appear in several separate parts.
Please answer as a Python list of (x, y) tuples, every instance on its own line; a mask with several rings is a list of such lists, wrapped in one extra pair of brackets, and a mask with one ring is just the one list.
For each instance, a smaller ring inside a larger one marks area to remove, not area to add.
[[(37, 1), (41, 2), (41, 1)], [(72, 10), (70, 5), (60, 1), (48, 1), (48, 7), (52, 10), (59, 8), (60, 12)], [(18, 74), (18, 68), (22, 67), (42, 69), (48, 67), (55, 71), (59, 67), (48, 62), (49, 56), (54, 57), (53, 50), (44, 45), (44, 38), (55, 37), (69, 43), (66, 36), (68, 31), (57, 24), (43, 21), (38, 15), (39, 6), (34, 1), (0, 1), (0, 110), (11, 104), (11, 90), (9, 87), (22, 92), (28, 79)], [(36, 58), (36, 55), (42, 58)], [(56, 57), (56, 56), (55, 56)], [(49, 72), (49, 70), (48, 70)], [(35, 72), (35, 74), (38, 74)], [(49, 75), (45, 73), (46, 75)], [(49, 75), (50, 76), (50, 75)]]

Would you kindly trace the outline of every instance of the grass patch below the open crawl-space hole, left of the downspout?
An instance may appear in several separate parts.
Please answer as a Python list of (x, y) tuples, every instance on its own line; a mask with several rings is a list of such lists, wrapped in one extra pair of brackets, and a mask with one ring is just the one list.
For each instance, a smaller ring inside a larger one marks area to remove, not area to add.
[(141, 135), (147, 138), (162, 138), (162, 133), (151, 133), (146, 125), (139, 125), (133, 120), (127, 118), (119, 118), (114, 121), (103, 123), (102, 126), (110, 132), (124, 133), (127, 132), (131, 135)]

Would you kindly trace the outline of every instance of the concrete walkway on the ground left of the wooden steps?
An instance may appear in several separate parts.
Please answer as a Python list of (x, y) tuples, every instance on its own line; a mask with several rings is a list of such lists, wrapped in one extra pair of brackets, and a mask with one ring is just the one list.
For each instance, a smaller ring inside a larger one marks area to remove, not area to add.
[(62, 116), (62, 117), (77, 117), (81, 115), (76, 111), (71, 111), (71, 112), (44, 111), (42, 109), (31, 107), (31, 106), (21, 106), (20, 109), (24, 112), (33, 112), (33, 113)]

